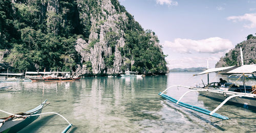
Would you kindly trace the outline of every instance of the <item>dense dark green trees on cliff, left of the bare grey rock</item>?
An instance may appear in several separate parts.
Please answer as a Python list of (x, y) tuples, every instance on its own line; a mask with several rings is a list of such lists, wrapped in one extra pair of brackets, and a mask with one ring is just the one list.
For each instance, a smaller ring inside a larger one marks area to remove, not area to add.
[[(30, 2), (30, 3), (28, 3)], [(74, 45), (80, 33), (74, 2), (61, 2), (63, 14), (46, 14), (41, 1), (0, 1), (1, 49), (10, 49), (5, 62), (16, 70), (68, 70), (79, 63)], [(46, 17), (49, 16), (49, 17)], [(58, 21), (66, 17), (66, 21)], [(65, 25), (65, 26), (63, 26)], [(86, 35), (86, 34), (84, 34)]]

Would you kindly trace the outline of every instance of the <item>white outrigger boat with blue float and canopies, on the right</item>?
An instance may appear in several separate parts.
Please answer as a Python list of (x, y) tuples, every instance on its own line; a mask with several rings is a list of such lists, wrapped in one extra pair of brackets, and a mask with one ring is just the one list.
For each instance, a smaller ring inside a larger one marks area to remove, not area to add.
[[(242, 52), (241, 52), (242, 53)], [(178, 105), (181, 105), (182, 107), (213, 116), (216, 118), (220, 118), (223, 120), (229, 119), (226, 116), (222, 116), (220, 114), (215, 113), (218, 111), (225, 103), (231, 103), (234, 105), (238, 105), (240, 107), (244, 107), (250, 110), (256, 110), (256, 86), (246, 86), (245, 85), (245, 74), (251, 74), (254, 79), (256, 80), (254, 72), (256, 71), (256, 64), (252, 65), (243, 65), (243, 56), (241, 54), (242, 59), (242, 66), (238, 67), (236, 69), (233, 69), (231, 71), (225, 72), (228, 74), (243, 74), (243, 85), (237, 86), (232, 83), (225, 83), (224, 85), (221, 85), (219, 82), (209, 83), (209, 74), (211, 72), (220, 72), (222, 70), (230, 69), (231, 67), (221, 67), (221, 68), (211, 68), (207, 69), (201, 73), (195, 74), (195, 75), (201, 75), (201, 74), (208, 74), (208, 85), (203, 86), (196, 86), (196, 87), (188, 87), (188, 86), (171, 86), (167, 89), (165, 89), (163, 92), (160, 92), (159, 95), (163, 98), (172, 101)], [(221, 72), (220, 72), (221, 73)], [(164, 94), (167, 90), (174, 88), (174, 87), (183, 87), (191, 89), (190, 91), (187, 91), (184, 93), (178, 100)], [(199, 92), (200, 95), (222, 101), (220, 105), (213, 111), (208, 111), (206, 109), (202, 109), (200, 107), (195, 107), (194, 105), (190, 105), (187, 103), (181, 102), (181, 99), (189, 92)]]

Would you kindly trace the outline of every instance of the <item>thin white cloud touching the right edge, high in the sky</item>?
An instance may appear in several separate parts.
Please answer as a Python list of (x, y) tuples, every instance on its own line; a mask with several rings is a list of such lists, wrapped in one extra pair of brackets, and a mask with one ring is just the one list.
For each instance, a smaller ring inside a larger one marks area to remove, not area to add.
[(250, 24), (244, 24), (244, 27), (248, 29), (256, 28), (256, 13), (246, 13), (243, 16), (230, 16), (227, 17), (227, 20), (233, 20), (234, 22), (237, 22), (237, 20), (250, 21)]

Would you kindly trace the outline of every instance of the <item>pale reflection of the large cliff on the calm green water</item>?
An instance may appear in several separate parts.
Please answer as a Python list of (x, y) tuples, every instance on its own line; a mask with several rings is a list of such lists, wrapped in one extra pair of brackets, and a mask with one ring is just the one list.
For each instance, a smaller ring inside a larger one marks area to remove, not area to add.
[[(161, 109), (157, 93), (166, 86), (166, 79), (166, 76), (81, 79), (82, 86), (73, 94), (73, 114), (77, 121), (86, 121), (90, 129), (79, 130), (104, 131), (112, 127), (108, 131), (138, 131), (138, 125), (131, 121), (159, 119), (152, 112)], [(116, 122), (120, 123), (118, 127)]]

